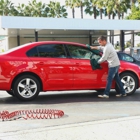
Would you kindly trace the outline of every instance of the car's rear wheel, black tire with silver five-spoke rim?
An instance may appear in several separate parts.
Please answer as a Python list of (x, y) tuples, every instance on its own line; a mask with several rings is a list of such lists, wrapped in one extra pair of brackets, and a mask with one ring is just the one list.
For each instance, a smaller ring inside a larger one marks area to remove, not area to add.
[(15, 96), (21, 101), (34, 100), (40, 92), (40, 83), (35, 76), (22, 75), (13, 86)]

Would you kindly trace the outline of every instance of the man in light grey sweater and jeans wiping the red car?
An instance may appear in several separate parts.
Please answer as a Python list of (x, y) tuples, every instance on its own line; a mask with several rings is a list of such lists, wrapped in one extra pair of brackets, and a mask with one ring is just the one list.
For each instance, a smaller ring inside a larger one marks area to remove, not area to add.
[(98, 38), (98, 43), (100, 44), (100, 46), (96, 46), (96, 47), (90, 46), (90, 48), (103, 50), (103, 55), (98, 60), (98, 63), (100, 64), (104, 61), (107, 61), (108, 67), (109, 67), (105, 91), (104, 91), (103, 95), (98, 95), (98, 97), (99, 98), (109, 98), (109, 92), (111, 89), (113, 79), (116, 81), (116, 83), (120, 89), (120, 93), (117, 94), (116, 96), (117, 97), (127, 96), (127, 94), (125, 93), (125, 90), (123, 88), (123, 85), (121, 83), (120, 77), (119, 77), (118, 70), (120, 67), (120, 61), (119, 61), (118, 55), (117, 55), (113, 45), (111, 43), (108, 43), (106, 37), (104, 37), (104, 36), (100, 36)]

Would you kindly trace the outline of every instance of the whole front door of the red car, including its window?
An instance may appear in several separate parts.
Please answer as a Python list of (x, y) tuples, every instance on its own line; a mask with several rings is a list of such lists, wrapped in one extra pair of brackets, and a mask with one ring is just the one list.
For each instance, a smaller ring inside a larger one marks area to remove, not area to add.
[[(104, 88), (108, 73), (107, 63), (101, 64), (101, 69), (93, 70), (90, 64), (90, 57), (93, 52), (83, 46), (67, 45), (73, 61), (74, 88), (75, 89), (96, 89)], [(101, 56), (93, 54), (95, 59)]]

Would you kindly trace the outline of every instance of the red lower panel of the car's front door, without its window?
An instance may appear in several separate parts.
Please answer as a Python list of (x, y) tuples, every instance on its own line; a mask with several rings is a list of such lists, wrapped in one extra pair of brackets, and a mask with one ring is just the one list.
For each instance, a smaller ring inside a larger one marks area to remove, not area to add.
[(74, 88), (97, 89), (105, 88), (108, 73), (107, 63), (103, 63), (101, 69), (93, 70), (90, 60), (73, 59)]

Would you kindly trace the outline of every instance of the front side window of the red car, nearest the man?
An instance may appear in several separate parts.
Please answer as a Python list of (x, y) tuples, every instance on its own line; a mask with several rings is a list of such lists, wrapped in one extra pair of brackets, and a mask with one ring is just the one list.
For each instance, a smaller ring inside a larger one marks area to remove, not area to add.
[(76, 59), (90, 59), (93, 53), (84, 47), (76, 46), (76, 45), (67, 45), (69, 53), (72, 58)]

